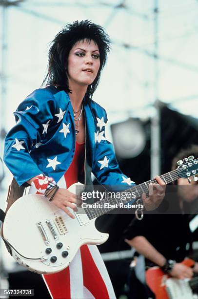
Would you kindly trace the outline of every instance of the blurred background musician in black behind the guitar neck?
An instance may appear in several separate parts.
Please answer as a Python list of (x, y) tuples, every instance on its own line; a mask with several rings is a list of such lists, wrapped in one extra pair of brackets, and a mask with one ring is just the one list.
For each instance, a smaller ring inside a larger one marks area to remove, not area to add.
[[(177, 168), (178, 160), (190, 155), (198, 157), (198, 146), (193, 145), (189, 149), (181, 150), (172, 161), (172, 170)], [(194, 273), (198, 273), (198, 262), (195, 262), (193, 268), (180, 262), (185, 257), (192, 256), (193, 234), (189, 227), (192, 215), (186, 213), (198, 212), (198, 181), (191, 178), (189, 183), (186, 178), (178, 178), (176, 184), (177, 192), (174, 196), (172, 192), (169, 196), (167, 188), (164, 201), (158, 209), (159, 214), (145, 214), (142, 221), (134, 218), (124, 231), (124, 238), (127, 244), (145, 257), (146, 268), (157, 265), (173, 278), (192, 278)], [(168, 205), (174, 207), (174, 210), (170, 211), (174, 214), (163, 214)], [(192, 205), (194, 211), (190, 211)], [(130, 283), (131, 298), (140, 298), (135, 287), (133, 288), (133, 281)], [(141, 299), (149, 296), (152, 296), (150, 290), (145, 287)]]

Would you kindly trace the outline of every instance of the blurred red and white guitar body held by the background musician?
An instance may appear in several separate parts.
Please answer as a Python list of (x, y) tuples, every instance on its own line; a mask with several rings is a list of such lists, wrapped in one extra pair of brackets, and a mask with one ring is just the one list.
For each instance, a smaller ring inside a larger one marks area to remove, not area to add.
[[(181, 263), (188, 267), (191, 267), (194, 265), (195, 262), (192, 259), (187, 258), (184, 259)], [(157, 266), (152, 267), (146, 271), (146, 283), (150, 287), (152, 292), (155, 294), (156, 299), (193, 299), (192, 291), (190, 289), (190, 286), (188, 286), (187, 281), (183, 281), (178, 278), (171, 278), (169, 275), (164, 274), (164, 272)], [(173, 286), (175, 292), (177, 292), (177, 289), (180, 292), (181, 288), (183, 287), (182, 295), (177, 294), (174, 297), (174, 295), (171, 294), (171, 296), (169, 296), (169, 286)], [(181, 297), (183, 295), (184, 297)]]

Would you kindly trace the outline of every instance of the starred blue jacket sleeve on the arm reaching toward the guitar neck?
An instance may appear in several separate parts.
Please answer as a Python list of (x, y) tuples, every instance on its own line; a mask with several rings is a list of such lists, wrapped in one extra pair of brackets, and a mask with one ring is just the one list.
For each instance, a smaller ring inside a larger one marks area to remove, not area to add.
[[(102, 120), (106, 124), (108, 119), (104, 109), (102, 109), (102, 114), (96, 118), (97, 122)], [(103, 124), (102, 121), (101, 126)], [(95, 132), (95, 159), (92, 171), (99, 183), (106, 185), (109, 190), (122, 191), (129, 189), (135, 183), (119, 169), (113, 145), (105, 137), (105, 126), (101, 128), (97, 122), (95, 126), (97, 128)]]

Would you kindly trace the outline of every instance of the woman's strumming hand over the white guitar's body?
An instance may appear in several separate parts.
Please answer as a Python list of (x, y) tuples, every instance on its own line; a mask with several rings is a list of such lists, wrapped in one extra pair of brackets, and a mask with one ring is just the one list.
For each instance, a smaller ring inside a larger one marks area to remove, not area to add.
[[(50, 198), (50, 194), (49, 197)], [(66, 214), (68, 214), (71, 218), (75, 218), (74, 214), (72, 214), (67, 207), (73, 209), (75, 212), (78, 211), (76, 207), (77, 199), (76, 195), (67, 189), (59, 188), (59, 190), (54, 195), (52, 202), (55, 206), (62, 209)]]

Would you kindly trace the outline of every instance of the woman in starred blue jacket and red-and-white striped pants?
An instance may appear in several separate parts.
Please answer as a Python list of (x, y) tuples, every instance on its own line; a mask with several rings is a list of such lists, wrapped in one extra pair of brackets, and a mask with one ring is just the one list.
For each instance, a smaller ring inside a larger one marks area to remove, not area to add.
[[(87, 20), (66, 25), (49, 50), (42, 85), (47, 86), (20, 104), (17, 124), (5, 140), (4, 161), (17, 183), (45, 194), (71, 218), (75, 216), (67, 207), (75, 211), (75, 195), (66, 188), (79, 177), (90, 181), (90, 170), (103, 185), (126, 189), (133, 184), (120, 171), (105, 139), (106, 112), (91, 100), (109, 50), (109, 37), (99, 25)], [(150, 186), (150, 197), (143, 195), (148, 210), (164, 196), (164, 183), (157, 180), (155, 190)], [(115, 298), (94, 245), (82, 246), (69, 267), (43, 278), (52, 298)]]

